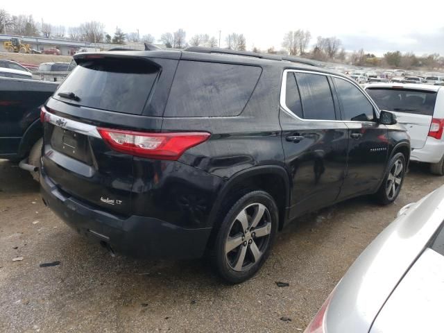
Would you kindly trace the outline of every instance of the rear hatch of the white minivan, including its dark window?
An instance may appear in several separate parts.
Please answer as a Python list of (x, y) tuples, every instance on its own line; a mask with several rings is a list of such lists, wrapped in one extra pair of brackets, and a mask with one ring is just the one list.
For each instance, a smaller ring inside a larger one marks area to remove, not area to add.
[(436, 91), (408, 87), (368, 87), (380, 109), (396, 114), (411, 137), (411, 148), (425, 145), (436, 103)]

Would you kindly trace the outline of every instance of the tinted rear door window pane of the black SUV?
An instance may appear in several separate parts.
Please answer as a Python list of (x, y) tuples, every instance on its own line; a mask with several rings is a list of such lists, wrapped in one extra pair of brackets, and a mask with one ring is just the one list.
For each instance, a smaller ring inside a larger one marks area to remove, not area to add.
[(334, 120), (334, 103), (327, 76), (296, 73), (304, 119)]

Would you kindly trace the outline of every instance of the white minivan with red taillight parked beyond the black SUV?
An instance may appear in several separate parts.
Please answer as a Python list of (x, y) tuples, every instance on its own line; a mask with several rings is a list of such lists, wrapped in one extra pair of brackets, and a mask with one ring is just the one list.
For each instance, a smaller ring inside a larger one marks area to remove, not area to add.
[(366, 92), (381, 110), (396, 114), (411, 137), (411, 161), (430, 163), (444, 175), (444, 87), (425, 84), (375, 83)]

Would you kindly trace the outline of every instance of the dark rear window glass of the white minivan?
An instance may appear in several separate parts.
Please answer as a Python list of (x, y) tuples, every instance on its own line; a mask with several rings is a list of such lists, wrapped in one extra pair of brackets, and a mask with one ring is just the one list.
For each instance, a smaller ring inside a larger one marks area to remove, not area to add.
[(366, 92), (381, 110), (432, 116), (436, 92), (399, 88), (368, 88)]

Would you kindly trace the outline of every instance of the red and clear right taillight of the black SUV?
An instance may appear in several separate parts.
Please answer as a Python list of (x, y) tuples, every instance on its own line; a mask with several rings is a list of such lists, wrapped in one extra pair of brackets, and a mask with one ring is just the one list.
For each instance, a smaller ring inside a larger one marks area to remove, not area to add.
[(178, 160), (184, 151), (210, 137), (210, 133), (205, 132), (144, 133), (109, 128), (97, 130), (114, 151), (157, 160)]

